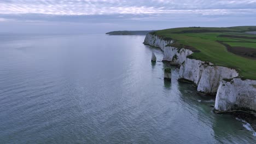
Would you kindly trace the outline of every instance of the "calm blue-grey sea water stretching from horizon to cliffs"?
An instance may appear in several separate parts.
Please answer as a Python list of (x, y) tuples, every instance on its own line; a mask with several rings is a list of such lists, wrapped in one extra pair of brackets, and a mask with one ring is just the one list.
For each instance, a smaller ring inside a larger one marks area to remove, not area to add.
[[(254, 143), (214, 100), (163, 80), (144, 36), (1, 35), (0, 143)], [(246, 129), (247, 128), (247, 129)]]

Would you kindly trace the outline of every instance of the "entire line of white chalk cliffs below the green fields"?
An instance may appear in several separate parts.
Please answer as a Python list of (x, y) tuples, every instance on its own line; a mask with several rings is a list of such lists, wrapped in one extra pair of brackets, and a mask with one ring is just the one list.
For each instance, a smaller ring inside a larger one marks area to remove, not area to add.
[[(173, 42), (150, 33), (144, 40), (144, 44), (159, 47), (164, 52), (163, 61), (181, 65), (180, 79), (195, 83), (199, 92), (217, 94), (214, 109), (231, 111), (240, 107), (256, 111), (256, 80), (242, 81), (235, 78), (238, 76), (235, 69), (187, 58), (193, 51), (168, 46)], [(232, 79), (234, 82), (226, 82), (223, 79)]]

